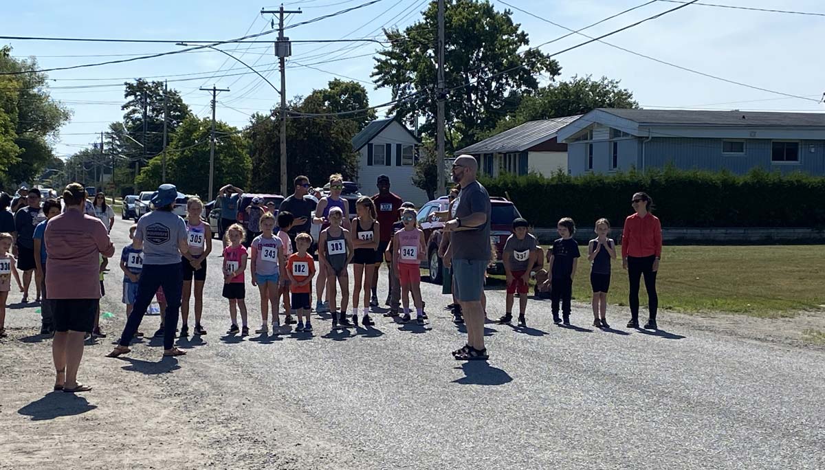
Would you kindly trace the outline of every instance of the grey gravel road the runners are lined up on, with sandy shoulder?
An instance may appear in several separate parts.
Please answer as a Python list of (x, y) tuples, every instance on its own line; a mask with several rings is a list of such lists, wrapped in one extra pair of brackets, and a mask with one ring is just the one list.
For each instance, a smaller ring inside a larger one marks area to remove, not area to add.
[[(118, 252), (126, 229), (115, 224)], [(82, 397), (49, 392), (50, 341), (36, 336), (34, 308), (10, 309), (0, 468), (41, 468), (58, 454), (86, 468), (825, 468), (823, 350), (670, 313), (666, 331), (626, 330), (624, 313), (594, 331), (583, 305), (573, 327), (556, 327), (549, 303), (531, 299), (528, 328), (488, 324), (491, 360), (460, 363), (449, 351), (463, 327), (432, 284), (422, 284), (425, 327), (379, 314), (375, 328), (330, 332), (316, 316), (314, 336), (225, 336), (217, 254), (209, 334), (181, 340), (179, 360), (161, 360), (157, 340), (102, 357), (124, 323), (111, 262), (103, 306), (116, 317), (86, 350), (81, 379), (95, 389)], [(498, 317), (503, 291), (488, 304)], [(248, 275), (247, 305), (254, 331)], [(146, 317), (142, 331), (157, 324)]]

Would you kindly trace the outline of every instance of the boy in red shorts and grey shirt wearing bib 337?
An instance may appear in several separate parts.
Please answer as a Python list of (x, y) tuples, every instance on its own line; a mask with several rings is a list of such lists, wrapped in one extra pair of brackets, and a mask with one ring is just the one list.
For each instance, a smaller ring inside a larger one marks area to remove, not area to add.
[[(504, 243), (504, 272), (507, 274), (507, 308), (499, 323), (510, 323), (513, 319), (513, 297), (518, 292), (518, 324), (526, 327), (527, 293), (530, 292), (530, 270), (535, 261), (537, 242), (532, 234), (527, 233), (528, 223), (525, 219), (513, 220), (513, 234)], [(493, 250), (495, 252), (495, 250)]]

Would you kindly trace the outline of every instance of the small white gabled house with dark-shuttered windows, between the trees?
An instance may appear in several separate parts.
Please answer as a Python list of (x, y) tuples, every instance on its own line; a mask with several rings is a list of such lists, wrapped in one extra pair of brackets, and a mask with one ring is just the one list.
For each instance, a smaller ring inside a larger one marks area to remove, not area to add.
[(416, 204), (427, 202), (427, 192), (413, 185), (413, 165), (417, 161), (418, 139), (394, 116), (374, 120), (352, 138), (359, 154), (358, 185), (365, 195), (378, 192), (379, 175), (389, 176), (391, 190)]

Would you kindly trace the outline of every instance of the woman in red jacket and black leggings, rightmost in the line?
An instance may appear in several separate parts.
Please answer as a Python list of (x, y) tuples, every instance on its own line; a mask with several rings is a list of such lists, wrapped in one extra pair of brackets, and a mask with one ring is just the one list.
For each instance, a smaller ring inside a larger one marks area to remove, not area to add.
[(656, 294), (656, 273), (662, 257), (662, 223), (650, 214), (653, 198), (647, 193), (633, 195), (633, 209), (636, 214), (625, 219), (625, 230), (621, 242), (621, 266), (627, 270), (630, 279), (630, 321), (628, 328), (639, 328), (639, 280), (644, 276), (644, 288), (648, 291), (650, 317), (645, 330), (656, 330), (656, 310), (659, 298)]

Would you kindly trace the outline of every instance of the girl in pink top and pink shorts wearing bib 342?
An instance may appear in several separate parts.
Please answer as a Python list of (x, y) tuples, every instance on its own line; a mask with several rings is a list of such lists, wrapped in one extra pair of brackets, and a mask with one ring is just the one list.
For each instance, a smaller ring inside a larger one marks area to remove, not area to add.
[(424, 259), (424, 233), (417, 227), (415, 209), (403, 209), (401, 222), (404, 228), (393, 236), (394, 265), (401, 282), (401, 303), (404, 308), (402, 320), (410, 321), (410, 293), (416, 308), (416, 322), (424, 324), (424, 308), (421, 299), (421, 261)]

